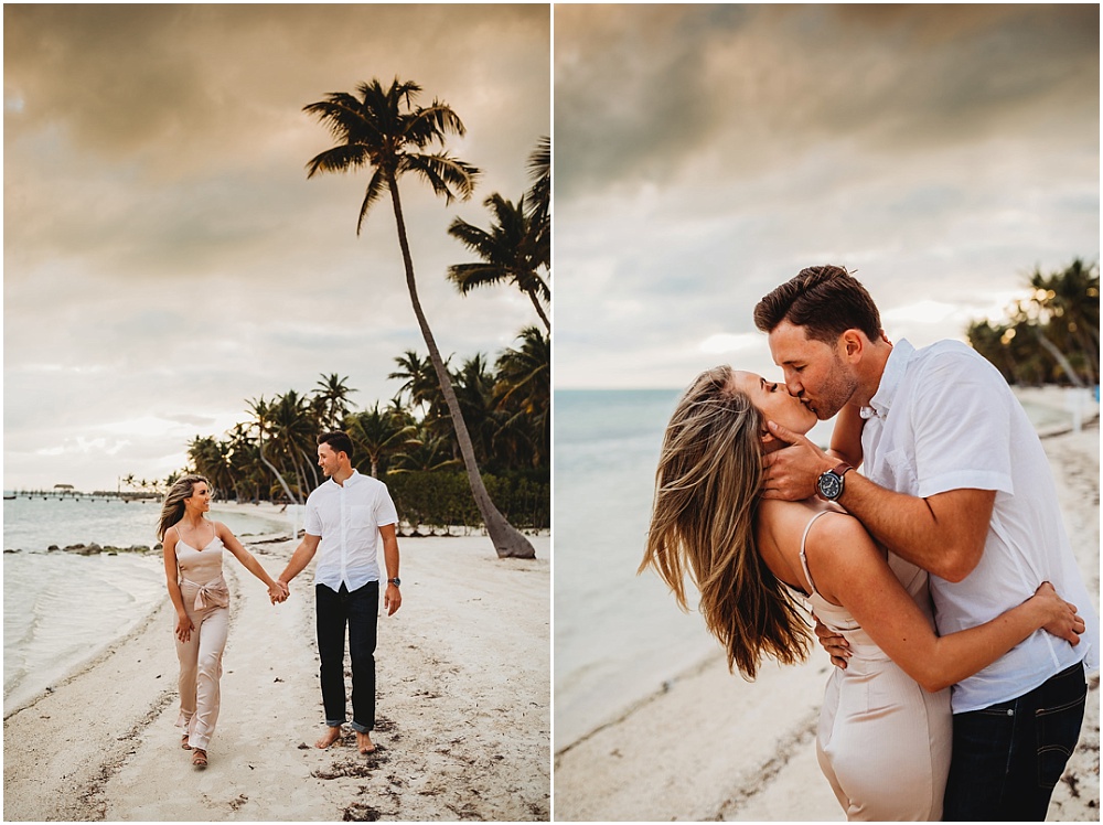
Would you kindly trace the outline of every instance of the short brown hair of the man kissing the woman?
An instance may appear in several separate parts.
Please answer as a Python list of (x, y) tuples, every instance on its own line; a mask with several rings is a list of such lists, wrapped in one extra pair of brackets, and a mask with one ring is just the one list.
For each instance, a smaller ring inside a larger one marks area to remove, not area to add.
[(802, 269), (754, 308), (754, 325), (762, 332), (773, 332), (782, 321), (803, 326), (811, 340), (826, 344), (847, 330), (861, 330), (870, 341), (881, 335), (881, 317), (869, 292), (845, 267), (831, 265)]

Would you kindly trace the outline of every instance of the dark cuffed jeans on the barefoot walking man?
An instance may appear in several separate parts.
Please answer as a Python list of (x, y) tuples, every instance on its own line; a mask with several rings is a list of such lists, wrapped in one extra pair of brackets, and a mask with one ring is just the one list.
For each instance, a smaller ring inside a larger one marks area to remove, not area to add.
[(352, 727), (375, 730), (375, 636), (379, 614), (379, 582), (370, 581), (349, 592), (314, 586), (318, 613), (318, 656), (322, 662), (322, 705), (331, 728), (345, 721), (344, 639), (349, 628), (352, 660)]

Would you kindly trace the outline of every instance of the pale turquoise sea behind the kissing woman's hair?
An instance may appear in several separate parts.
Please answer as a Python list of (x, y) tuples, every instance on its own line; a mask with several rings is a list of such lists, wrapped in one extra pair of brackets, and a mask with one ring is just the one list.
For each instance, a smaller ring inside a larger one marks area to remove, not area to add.
[(677, 390), (555, 393), (555, 749), (708, 651), (700, 617), (635, 570)]

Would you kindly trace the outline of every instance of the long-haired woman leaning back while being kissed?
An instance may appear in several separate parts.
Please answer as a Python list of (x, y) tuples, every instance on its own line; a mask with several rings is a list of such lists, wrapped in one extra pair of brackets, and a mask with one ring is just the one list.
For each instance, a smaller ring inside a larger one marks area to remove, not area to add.
[[(763, 656), (807, 656), (806, 602), (849, 643), (832, 668), (820, 716), (820, 765), (848, 819), (940, 819), (950, 768), (950, 685), (1040, 629), (1075, 644), (1075, 608), (1048, 583), (978, 628), (939, 638), (927, 574), (886, 554), (834, 504), (759, 500), (762, 457), (784, 444), (767, 420), (805, 433), (816, 416), (783, 384), (722, 366), (698, 376), (666, 428), (647, 548), (686, 609), (683, 577), (724, 644), (728, 667), (752, 679)], [(836, 448), (854, 462), (855, 431)]]

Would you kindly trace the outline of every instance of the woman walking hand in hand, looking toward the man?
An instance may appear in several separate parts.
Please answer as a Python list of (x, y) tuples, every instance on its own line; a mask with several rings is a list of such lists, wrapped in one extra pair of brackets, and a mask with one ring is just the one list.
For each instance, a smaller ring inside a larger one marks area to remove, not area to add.
[(272, 603), (288, 593), (221, 522), (211, 522), (211, 484), (202, 475), (185, 475), (169, 490), (161, 505), (157, 537), (164, 543), (164, 575), (176, 609), (176, 657), (180, 660), (181, 747), (192, 751), (192, 764), (206, 768), (207, 744), (218, 720), (222, 652), (229, 629), (229, 591), (222, 577), (223, 550), (268, 586)]

